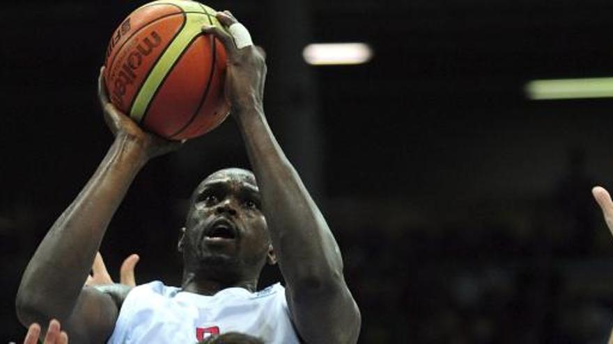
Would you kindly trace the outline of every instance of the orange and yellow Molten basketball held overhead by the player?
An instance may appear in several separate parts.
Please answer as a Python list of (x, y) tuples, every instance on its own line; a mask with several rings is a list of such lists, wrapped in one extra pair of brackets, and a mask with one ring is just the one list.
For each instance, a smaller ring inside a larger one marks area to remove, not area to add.
[(170, 140), (200, 136), (227, 117), (226, 51), (201, 32), (221, 26), (212, 8), (164, 0), (134, 10), (107, 48), (104, 82), (111, 102), (141, 127)]

